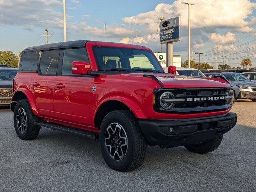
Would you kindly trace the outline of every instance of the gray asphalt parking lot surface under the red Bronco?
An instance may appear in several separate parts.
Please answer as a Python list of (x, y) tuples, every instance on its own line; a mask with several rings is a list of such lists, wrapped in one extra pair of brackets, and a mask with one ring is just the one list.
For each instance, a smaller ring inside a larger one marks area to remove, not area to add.
[(116, 172), (98, 140), (42, 128), (35, 140), (16, 136), (10, 110), (0, 110), (0, 191), (256, 191), (256, 103), (236, 102), (237, 125), (220, 147), (148, 148), (140, 168)]

